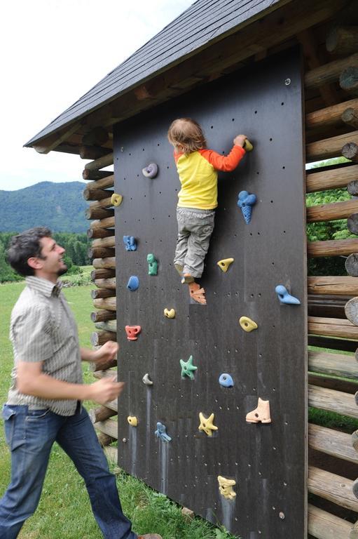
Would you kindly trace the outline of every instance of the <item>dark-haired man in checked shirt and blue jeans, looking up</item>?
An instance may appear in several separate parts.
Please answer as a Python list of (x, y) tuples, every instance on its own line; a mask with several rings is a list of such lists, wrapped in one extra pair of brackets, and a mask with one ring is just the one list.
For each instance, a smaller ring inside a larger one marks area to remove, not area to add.
[[(80, 349), (74, 317), (57, 283), (67, 271), (63, 255), (64, 248), (45, 227), (13, 237), (8, 249), (8, 261), (26, 277), (27, 286), (11, 315), (15, 366), (3, 415), (12, 477), (0, 500), (0, 538), (17, 538), (36, 510), (57, 441), (85, 480), (104, 538), (136, 539), (122, 512), (115, 477), (81, 405), (85, 399), (106, 404), (120, 394), (123, 383), (102, 378), (84, 385), (81, 371), (81, 360), (113, 359), (118, 345), (106, 342), (96, 351)], [(151, 533), (144, 538), (161, 539)]]

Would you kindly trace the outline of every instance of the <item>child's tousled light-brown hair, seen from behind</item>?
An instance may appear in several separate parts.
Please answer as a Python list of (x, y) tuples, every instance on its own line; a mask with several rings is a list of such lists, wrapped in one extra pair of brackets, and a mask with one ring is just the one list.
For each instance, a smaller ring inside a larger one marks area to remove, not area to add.
[(191, 118), (174, 120), (168, 130), (168, 140), (175, 148), (180, 146), (184, 154), (191, 154), (207, 145), (202, 128)]

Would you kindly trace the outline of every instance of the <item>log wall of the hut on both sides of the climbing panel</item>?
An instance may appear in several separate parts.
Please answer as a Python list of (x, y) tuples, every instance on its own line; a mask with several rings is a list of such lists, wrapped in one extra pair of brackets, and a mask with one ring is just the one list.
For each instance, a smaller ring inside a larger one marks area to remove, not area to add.
[[(354, 39), (356, 30), (347, 30), (345, 25), (332, 29), (332, 22), (328, 22), (296, 36), (306, 60), (306, 162), (322, 161), (340, 155), (352, 159), (346, 166), (308, 171), (308, 193), (345, 188), (348, 185), (353, 189), (352, 182), (358, 179), (357, 39)], [(329, 51), (325, 50), (325, 41)], [(338, 45), (333, 46), (332, 42)], [(266, 51), (266, 54), (275, 51)], [(257, 55), (256, 60), (260, 58), (262, 53)], [(97, 308), (91, 314), (97, 330), (92, 337), (93, 345), (102, 344), (109, 338), (116, 339), (116, 258), (113, 206), (110, 203), (113, 189), (107, 191), (113, 187), (113, 175), (100, 170), (113, 163), (113, 154), (108, 153), (109, 147), (107, 142), (104, 157), (90, 154), (89, 150), (83, 152), (84, 158), (92, 155), (95, 159), (86, 165), (83, 172), (83, 178), (90, 180), (84, 196), (92, 201), (87, 217), (95, 219), (88, 231), (89, 237), (94, 239), (91, 254), (95, 269), (92, 280), (97, 286), (92, 296)], [(354, 191), (352, 193), (357, 194)], [(352, 198), (346, 202), (308, 208), (307, 221), (349, 218), (349, 222), (354, 223), (354, 213), (358, 213), (358, 202)], [(347, 352), (357, 349), (358, 327), (355, 320), (352, 322), (347, 319), (345, 305), (350, 298), (358, 295), (357, 253), (358, 239), (308, 244), (309, 257), (345, 256), (348, 269), (345, 277), (308, 277), (308, 344), (331, 350), (322, 352), (310, 349), (308, 352), (308, 404), (313, 408), (351, 418), (358, 418), (358, 407), (354, 401), (357, 361)], [(102, 367), (113, 368), (113, 365)], [(108, 375), (108, 371), (97, 371), (95, 375)], [(113, 420), (116, 410), (117, 403), (113, 401), (92, 412), (104, 444), (118, 436), (117, 425)], [(357, 517), (358, 503), (352, 493), (352, 485), (358, 475), (358, 453), (352, 448), (350, 434), (314, 424), (309, 425), (308, 433), (310, 537), (357, 539), (358, 528), (352, 528), (352, 525)], [(112, 451), (113, 454), (115, 451)]]

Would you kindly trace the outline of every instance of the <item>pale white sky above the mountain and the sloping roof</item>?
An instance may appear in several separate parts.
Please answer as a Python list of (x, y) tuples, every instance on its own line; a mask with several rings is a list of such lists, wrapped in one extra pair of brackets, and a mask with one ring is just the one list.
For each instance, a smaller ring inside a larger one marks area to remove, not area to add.
[(193, 2), (3, 2), (0, 190), (81, 181), (88, 161), (22, 146)]

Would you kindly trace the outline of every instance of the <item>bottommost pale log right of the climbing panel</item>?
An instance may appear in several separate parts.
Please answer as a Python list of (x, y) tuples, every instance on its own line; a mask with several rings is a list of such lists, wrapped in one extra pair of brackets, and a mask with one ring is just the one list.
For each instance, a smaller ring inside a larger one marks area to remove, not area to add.
[[(116, 460), (117, 462), (117, 460)], [(308, 504), (308, 533), (317, 539), (350, 539), (352, 524)]]

